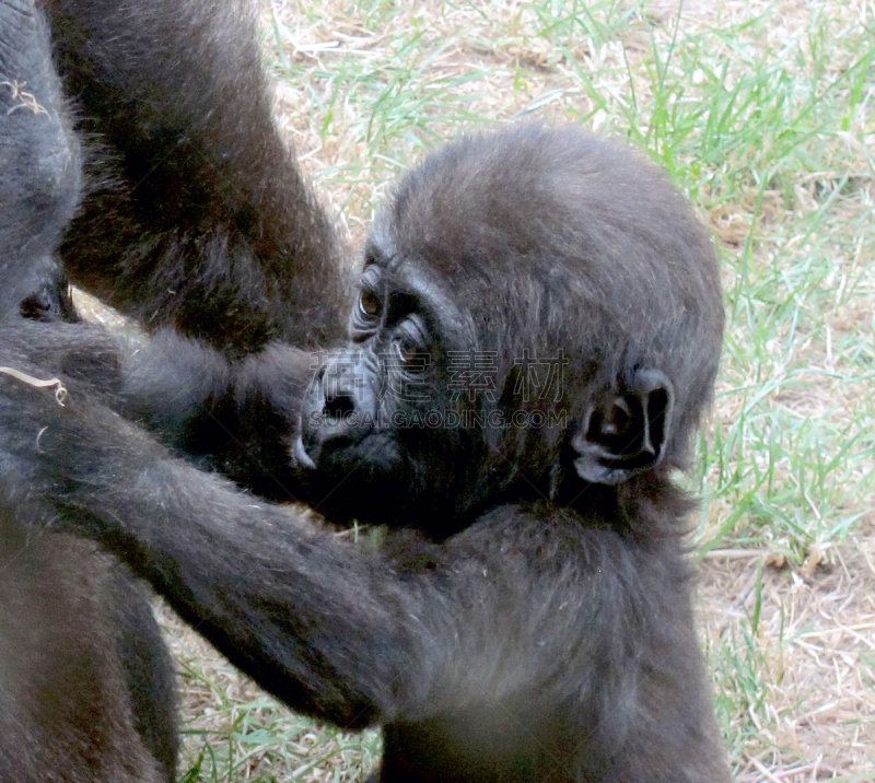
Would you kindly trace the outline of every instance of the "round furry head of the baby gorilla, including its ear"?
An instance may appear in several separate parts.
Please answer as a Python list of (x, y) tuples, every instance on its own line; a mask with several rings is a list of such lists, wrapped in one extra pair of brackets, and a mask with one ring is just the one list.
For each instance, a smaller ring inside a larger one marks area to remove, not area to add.
[(464, 139), (401, 182), (364, 264), (296, 447), (329, 515), (442, 537), (500, 502), (585, 506), (605, 494), (586, 486), (684, 464), (720, 281), (638, 155), (573, 129)]

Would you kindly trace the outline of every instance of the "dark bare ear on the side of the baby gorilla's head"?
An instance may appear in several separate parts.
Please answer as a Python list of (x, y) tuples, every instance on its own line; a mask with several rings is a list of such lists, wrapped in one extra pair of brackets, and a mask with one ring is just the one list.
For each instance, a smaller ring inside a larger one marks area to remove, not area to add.
[(571, 439), (578, 475), (591, 483), (618, 484), (656, 467), (665, 453), (674, 399), (665, 373), (641, 367), (620, 394), (594, 401)]

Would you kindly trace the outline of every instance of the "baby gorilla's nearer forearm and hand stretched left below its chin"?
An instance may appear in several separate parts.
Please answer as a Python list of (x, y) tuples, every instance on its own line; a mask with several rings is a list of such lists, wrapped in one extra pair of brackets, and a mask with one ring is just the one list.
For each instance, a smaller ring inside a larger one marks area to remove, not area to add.
[[(3, 465), (34, 503), (15, 501), (32, 513), (51, 509), (52, 528), (129, 561), (291, 706), (360, 726), (409, 710), (419, 699), (406, 691), (447, 690), (435, 681), (443, 656), (431, 640), (459, 638), (448, 605), (459, 563), (401, 574), (175, 459), (108, 408), (83, 406), (74, 388), (61, 408), (16, 379), (0, 376), (0, 387)], [(441, 607), (445, 617), (430, 628), (427, 613)]]

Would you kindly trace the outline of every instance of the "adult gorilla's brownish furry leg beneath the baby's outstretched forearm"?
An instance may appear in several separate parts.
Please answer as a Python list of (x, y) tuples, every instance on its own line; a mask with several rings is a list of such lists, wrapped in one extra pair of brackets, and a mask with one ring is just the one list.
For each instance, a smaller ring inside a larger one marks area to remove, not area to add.
[(172, 673), (130, 574), (84, 541), (28, 535), (8, 509), (0, 551), (0, 780), (172, 781)]

